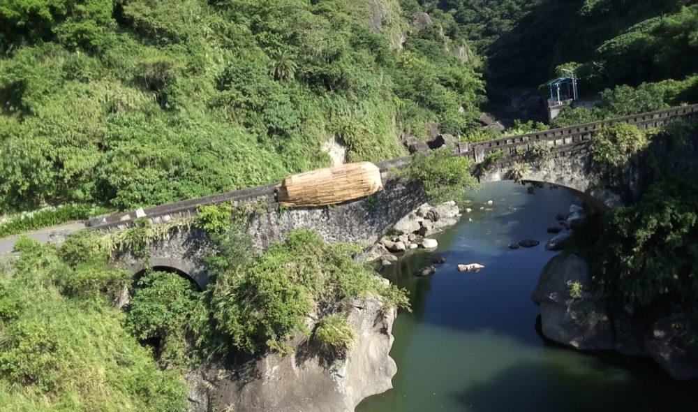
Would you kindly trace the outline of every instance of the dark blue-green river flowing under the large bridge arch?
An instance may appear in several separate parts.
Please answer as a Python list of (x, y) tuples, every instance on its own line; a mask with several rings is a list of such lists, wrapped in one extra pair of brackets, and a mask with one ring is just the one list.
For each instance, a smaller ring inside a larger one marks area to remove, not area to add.
[[(467, 198), (474, 212), (436, 236), (436, 251), (419, 249), (383, 270), (409, 290), (413, 313), (401, 311), (394, 323), (394, 389), (357, 412), (696, 410), (698, 380), (674, 381), (646, 359), (572, 351), (537, 332), (530, 295), (554, 256), (543, 248), (546, 228), (579, 204), (572, 193), (498, 182)], [(488, 200), (491, 210), (480, 210)], [(526, 238), (541, 244), (508, 248)], [(413, 277), (437, 256), (446, 263), (433, 277)], [(485, 268), (461, 273), (459, 263)]]

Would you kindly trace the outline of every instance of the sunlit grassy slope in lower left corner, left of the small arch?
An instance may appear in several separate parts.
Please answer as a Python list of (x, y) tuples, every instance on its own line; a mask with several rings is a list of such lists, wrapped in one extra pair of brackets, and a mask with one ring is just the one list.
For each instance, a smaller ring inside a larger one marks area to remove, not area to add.
[(13, 276), (0, 274), (0, 410), (184, 410), (181, 373), (162, 371), (111, 305), (126, 272), (68, 265), (26, 238), (17, 249)]

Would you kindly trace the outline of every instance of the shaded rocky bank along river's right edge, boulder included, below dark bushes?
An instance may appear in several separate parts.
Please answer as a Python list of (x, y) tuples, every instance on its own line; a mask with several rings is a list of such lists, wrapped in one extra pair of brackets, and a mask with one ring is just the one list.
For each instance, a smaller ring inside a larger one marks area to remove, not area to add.
[(588, 263), (570, 254), (544, 267), (533, 301), (548, 339), (580, 351), (648, 356), (676, 379), (698, 377), (698, 329), (680, 308), (636, 311), (604, 300)]

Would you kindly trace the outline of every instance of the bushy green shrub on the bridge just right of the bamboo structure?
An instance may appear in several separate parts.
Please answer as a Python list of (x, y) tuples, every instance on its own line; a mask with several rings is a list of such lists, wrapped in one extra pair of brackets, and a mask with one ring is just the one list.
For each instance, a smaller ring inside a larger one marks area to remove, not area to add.
[(399, 175), (418, 182), (434, 203), (460, 200), (465, 189), (477, 187), (471, 174), (470, 161), (452, 156), (450, 149), (432, 150), (429, 154), (413, 154), (410, 163)]

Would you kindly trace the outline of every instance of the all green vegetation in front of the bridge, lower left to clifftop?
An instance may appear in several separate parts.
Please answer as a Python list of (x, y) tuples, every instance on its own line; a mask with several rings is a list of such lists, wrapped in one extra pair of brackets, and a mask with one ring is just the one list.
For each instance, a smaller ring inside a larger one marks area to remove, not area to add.
[[(150, 226), (116, 237), (85, 231), (60, 248), (22, 237), (20, 258), (0, 271), (0, 410), (183, 411), (184, 372), (204, 358), (288, 353), (288, 339), (310, 337), (311, 313), (320, 316), (313, 341), (341, 357), (355, 344), (346, 321), (355, 299), (407, 307), (403, 290), (352, 259), (359, 248), (297, 230), (254, 256), (231, 213), (209, 207), (196, 222), (228, 221), (211, 233), (205, 291), (170, 272), (145, 272), (133, 284), (110, 263), (124, 242), (147, 249), (162, 236)], [(119, 310), (125, 288), (132, 298)]]

